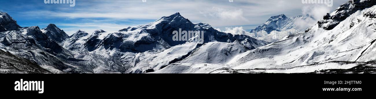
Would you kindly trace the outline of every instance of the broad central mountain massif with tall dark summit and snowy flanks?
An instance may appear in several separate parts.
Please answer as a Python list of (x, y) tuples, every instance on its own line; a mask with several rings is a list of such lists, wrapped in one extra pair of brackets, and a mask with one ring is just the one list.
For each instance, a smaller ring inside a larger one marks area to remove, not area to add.
[[(204, 31), (204, 44), (197, 41), (174, 41), (172, 33), (179, 29)], [(164, 16), (155, 22), (124, 28), (118, 32), (96, 30), (88, 35), (83, 31), (77, 31), (64, 41), (63, 47), (71, 50), (77, 59), (102, 64), (93, 70), (94, 73), (146, 73), (157, 71), (183, 59), (187, 61), (186, 58), (194, 55), (196, 50), (201, 49), (202, 46), (215, 49), (215, 46), (205, 46), (209, 42), (217, 42), (218, 46), (222, 44), (226, 46), (226, 48), (215, 50), (221, 51), (218, 54), (223, 54), (221, 56), (223, 61), (227, 61), (228, 58), (241, 52), (269, 44), (247, 35), (219, 32), (209, 24), (193, 24), (180, 13), (175, 13), (171, 16)], [(210, 53), (207, 54), (210, 55)], [(199, 58), (215, 59), (214, 56)], [(218, 61), (202, 62), (215, 63)]]

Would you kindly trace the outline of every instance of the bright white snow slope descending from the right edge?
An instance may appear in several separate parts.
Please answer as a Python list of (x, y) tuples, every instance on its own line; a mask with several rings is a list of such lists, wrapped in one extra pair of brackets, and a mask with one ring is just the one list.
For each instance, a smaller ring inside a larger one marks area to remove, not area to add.
[[(229, 68), (271, 69), (262, 70), (265, 72), (274, 72), (275, 69), (281, 68), (287, 70), (299, 68), (300, 71), (285, 72), (297, 73), (325, 69), (350, 69), (358, 66), (358, 62), (375, 60), (376, 18), (374, 13), (376, 6), (370, 8), (357, 7), (352, 6), (352, 2), (370, 4), (374, 1), (349, 1), (331, 15), (343, 13), (338, 10), (343, 9), (344, 5), (358, 10), (344, 18), (343, 21), (339, 21), (338, 25), (331, 30), (320, 28), (321, 23), (318, 22), (306, 33), (289, 35), (280, 41), (250, 50), (249, 54), (237, 59), (230, 64)], [(345, 64), (341, 62), (345, 62)]]

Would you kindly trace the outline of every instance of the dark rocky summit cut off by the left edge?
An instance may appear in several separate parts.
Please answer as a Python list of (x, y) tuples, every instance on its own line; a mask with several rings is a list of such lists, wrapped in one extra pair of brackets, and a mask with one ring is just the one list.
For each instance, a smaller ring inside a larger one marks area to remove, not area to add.
[(8, 13), (0, 12), (0, 32), (19, 30), (20, 25), (8, 15)]

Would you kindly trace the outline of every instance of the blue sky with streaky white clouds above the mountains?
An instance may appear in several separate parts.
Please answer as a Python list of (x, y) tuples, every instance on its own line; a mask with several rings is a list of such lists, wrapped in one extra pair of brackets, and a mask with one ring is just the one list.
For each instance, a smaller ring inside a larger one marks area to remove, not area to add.
[(53, 23), (69, 35), (79, 29), (89, 33), (99, 29), (117, 31), (176, 12), (194, 23), (208, 23), (216, 28), (243, 27), (248, 31), (280, 14), (311, 14), (320, 18), (346, 1), (334, 0), (334, 6), (327, 7), (302, 4), (302, 0), (76, 0), (76, 6), (70, 7), (45, 4), (44, 0), (0, 0), (0, 11), (9, 13), (21, 27), (44, 28)]

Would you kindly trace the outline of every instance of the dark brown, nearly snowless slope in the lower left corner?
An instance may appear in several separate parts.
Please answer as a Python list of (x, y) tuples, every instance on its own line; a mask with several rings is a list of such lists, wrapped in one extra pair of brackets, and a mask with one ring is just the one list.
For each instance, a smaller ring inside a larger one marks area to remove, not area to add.
[(49, 73), (35, 62), (0, 50), (0, 73)]

